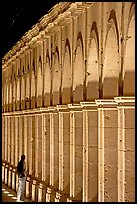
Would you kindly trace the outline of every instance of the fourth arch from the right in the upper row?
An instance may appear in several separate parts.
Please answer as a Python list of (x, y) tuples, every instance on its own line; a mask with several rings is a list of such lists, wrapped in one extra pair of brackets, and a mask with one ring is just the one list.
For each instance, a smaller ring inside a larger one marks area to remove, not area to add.
[(85, 65), (84, 65), (83, 40), (81, 33), (79, 33), (76, 43), (73, 69), (73, 102), (75, 103), (83, 101), (84, 76)]

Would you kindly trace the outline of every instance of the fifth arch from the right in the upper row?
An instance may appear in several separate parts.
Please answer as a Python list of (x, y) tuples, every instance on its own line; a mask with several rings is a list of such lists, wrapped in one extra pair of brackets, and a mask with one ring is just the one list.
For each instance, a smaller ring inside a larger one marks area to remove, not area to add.
[(64, 49), (64, 59), (62, 68), (62, 104), (71, 102), (71, 87), (72, 87), (72, 68), (71, 68), (71, 53), (70, 43), (66, 40)]

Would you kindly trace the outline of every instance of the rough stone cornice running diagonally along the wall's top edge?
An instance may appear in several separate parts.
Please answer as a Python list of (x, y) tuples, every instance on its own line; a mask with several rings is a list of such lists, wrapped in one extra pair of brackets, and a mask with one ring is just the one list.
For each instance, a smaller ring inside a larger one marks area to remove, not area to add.
[[(87, 3), (90, 4), (90, 2)], [(93, 4), (93, 2), (91, 2), (91, 4)], [(63, 21), (63, 18), (68, 19), (73, 17), (75, 12), (81, 12), (84, 6), (85, 2), (60, 2), (53, 6), (49, 10), (48, 14), (43, 16), (38, 23), (32, 26), (32, 28), (27, 31), (3, 57), (2, 66), (4, 66), (4, 64), (9, 64), (9, 61), (13, 58), (13, 56), (17, 56), (17, 52), (18, 55), (22, 54), (25, 49), (28, 49), (28, 45), (31, 46), (32, 43), (41, 39), (43, 32), (45, 32), (45, 35), (47, 32), (52, 32), (52, 29), (57, 27), (59, 23)]]

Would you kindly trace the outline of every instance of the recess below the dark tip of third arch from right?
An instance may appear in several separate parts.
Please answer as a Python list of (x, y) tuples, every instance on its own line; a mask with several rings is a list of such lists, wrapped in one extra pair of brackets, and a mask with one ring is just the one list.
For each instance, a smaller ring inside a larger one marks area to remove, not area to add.
[(87, 60), (87, 101), (99, 98), (99, 71), (98, 53), (94, 38), (91, 40), (89, 55)]

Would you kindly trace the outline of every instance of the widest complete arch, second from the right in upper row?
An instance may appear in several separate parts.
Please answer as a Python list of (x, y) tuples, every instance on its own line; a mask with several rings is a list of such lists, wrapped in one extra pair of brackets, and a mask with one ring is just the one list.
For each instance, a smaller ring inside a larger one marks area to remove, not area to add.
[(108, 21), (108, 32), (105, 39), (102, 76), (103, 98), (113, 98), (119, 94), (119, 41), (117, 23), (114, 16), (114, 12), (112, 11)]

